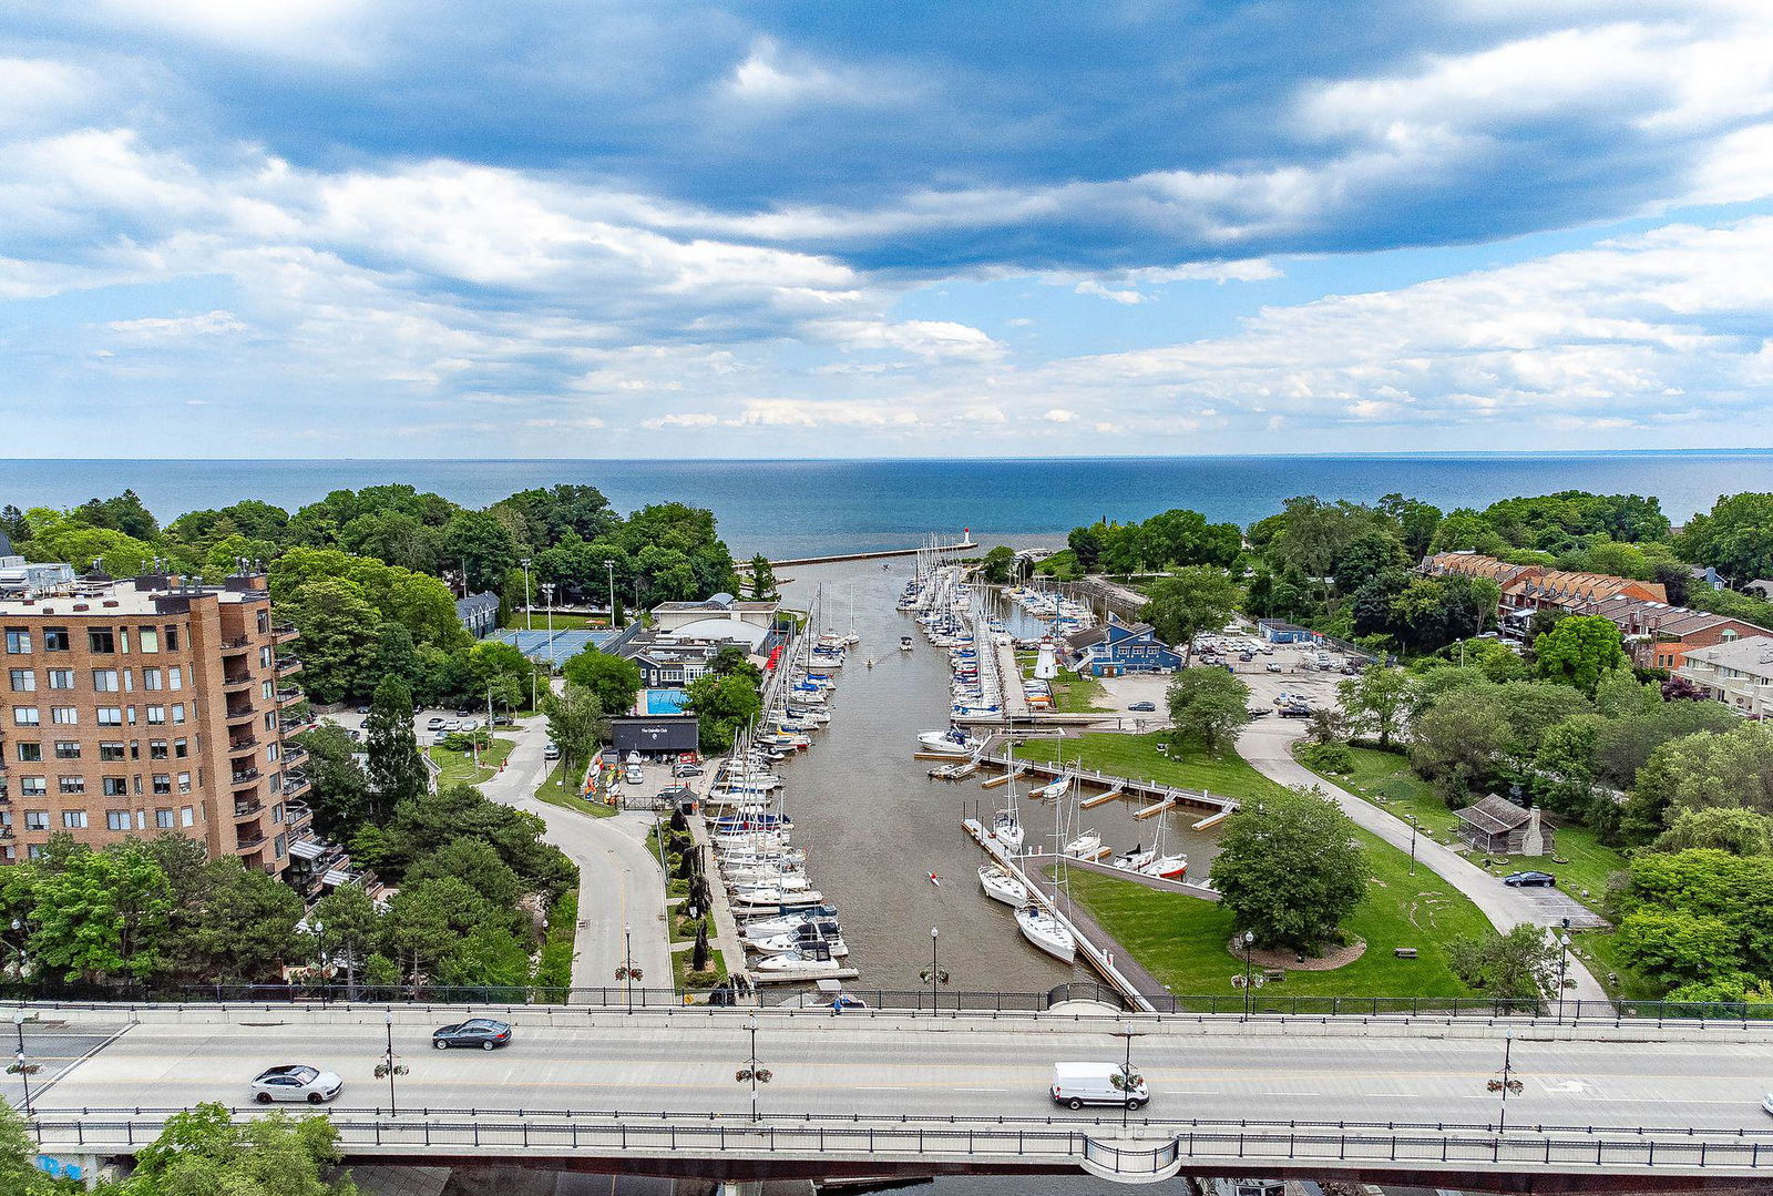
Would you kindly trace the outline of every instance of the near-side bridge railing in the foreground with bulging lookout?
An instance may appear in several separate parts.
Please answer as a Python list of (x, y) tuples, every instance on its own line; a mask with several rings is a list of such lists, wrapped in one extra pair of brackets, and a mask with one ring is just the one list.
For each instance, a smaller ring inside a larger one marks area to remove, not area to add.
[[(167, 1113), (126, 1116), (43, 1114), (30, 1132), (46, 1152), (133, 1153), (165, 1129)], [(1186, 1161), (1255, 1164), (1355, 1164), (1372, 1169), (1663, 1171), (1681, 1175), (1773, 1171), (1773, 1145), (1748, 1137), (1647, 1136), (1629, 1130), (1317, 1130), (1289, 1127), (1190, 1129), (1161, 1137), (1096, 1137), (1080, 1129), (996, 1123), (904, 1125), (805, 1121), (631, 1123), (477, 1113), (362, 1116), (333, 1113), (346, 1157), (410, 1157), (420, 1152), (504, 1155), (796, 1155), (927, 1157), (1083, 1164), (1136, 1178)], [(1149, 1132), (1149, 1130), (1145, 1130)]]

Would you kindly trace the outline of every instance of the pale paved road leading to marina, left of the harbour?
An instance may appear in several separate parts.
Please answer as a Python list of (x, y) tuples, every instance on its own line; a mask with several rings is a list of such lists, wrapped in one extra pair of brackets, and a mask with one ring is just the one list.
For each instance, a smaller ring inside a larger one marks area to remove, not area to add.
[(619, 988), (615, 969), (633, 937), (633, 960), (642, 971), (635, 987), (670, 988), (670, 946), (665, 928), (665, 878), (647, 850), (652, 814), (622, 813), (592, 818), (537, 802), (535, 786), (548, 775), (543, 759), (548, 724), (528, 719), (516, 728), (516, 747), (505, 770), (480, 786), (495, 802), (539, 814), (546, 839), (578, 864), (578, 935), (573, 958), (574, 988)]

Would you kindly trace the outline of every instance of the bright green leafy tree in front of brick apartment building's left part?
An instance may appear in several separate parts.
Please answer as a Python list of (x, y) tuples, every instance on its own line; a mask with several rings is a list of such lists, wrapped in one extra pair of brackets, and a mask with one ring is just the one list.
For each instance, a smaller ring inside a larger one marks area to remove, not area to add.
[(147, 980), (172, 909), (167, 873), (138, 839), (73, 848), (37, 880), (30, 955), (64, 980)]

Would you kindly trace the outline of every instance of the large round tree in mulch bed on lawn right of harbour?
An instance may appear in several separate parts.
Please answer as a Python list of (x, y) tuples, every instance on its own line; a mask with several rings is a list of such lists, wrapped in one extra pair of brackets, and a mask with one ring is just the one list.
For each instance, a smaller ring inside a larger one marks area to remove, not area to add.
[(1367, 894), (1371, 869), (1355, 823), (1316, 791), (1291, 790), (1246, 800), (1225, 820), (1213, 884), (1238, 932), (1255, 940), (1316, 951)]

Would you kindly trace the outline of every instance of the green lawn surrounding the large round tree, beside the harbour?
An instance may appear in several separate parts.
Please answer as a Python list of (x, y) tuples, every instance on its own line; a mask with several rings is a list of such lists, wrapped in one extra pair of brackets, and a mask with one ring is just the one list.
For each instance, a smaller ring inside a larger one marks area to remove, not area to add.
[[(1410, 875), (1410, 857), (1358, 830), (1374, 878), (1367, 900), (1344, 926), (1367, 942), (1353, 964), (1326, 971), (1289, 971), (1262, 994), (1347, 997), (1457, 997), (1472, 990), (1452, 974), (1445, 944), (1479, 937), (1489, 921), (1452, 885), (1425, 868)], [(1121, 944), (1175, 995), (1234, 995), (1243, 960), (1227, 949), (1232, 916), (1223, 905), (1158, 893), (1129, 880), (1076, 869), (1071, 891)], [(1392, 948), (1415, 948), (1399, 960)]]

